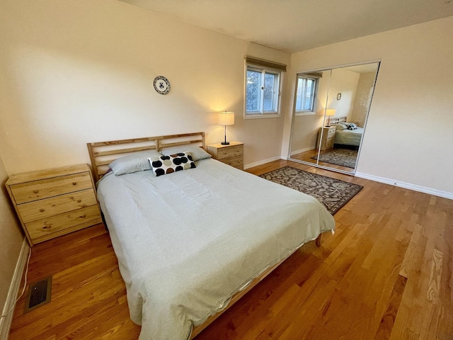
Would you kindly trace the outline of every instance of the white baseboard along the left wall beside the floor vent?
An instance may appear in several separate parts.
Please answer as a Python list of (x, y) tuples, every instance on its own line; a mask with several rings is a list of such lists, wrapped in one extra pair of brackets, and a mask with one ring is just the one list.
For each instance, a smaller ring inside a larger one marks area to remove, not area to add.
[[(21, 253), (19, 254), (16, 269), (14, 270), (13, 278), (11, 280), (11, 285), (9, 285), (8, 296), (6, 297), (6, 302), (1, 312), (2, 315), (6, 314), (13, 305), (16, 303), (18, 291), (21, 285), (23, 270), (27, 264), (28, 251), (30, 246), (28, 245), (27, 239), (23, 239)], [(0, 339), (7, 340), (9, 335), (9, 329), (11, 328), (11, 322), (13, 322), (14, 310), (8, 314), (6, 317), (0, 319)]]

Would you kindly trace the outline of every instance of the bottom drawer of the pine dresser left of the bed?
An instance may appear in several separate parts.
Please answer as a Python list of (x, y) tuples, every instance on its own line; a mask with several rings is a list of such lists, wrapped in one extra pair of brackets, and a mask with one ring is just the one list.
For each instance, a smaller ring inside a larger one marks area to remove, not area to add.
[(25, 223), (25, 227), (31, 239), (38, 243), (98, 222), (101, 222), (98, 205), (91, 205), (91, 207)]

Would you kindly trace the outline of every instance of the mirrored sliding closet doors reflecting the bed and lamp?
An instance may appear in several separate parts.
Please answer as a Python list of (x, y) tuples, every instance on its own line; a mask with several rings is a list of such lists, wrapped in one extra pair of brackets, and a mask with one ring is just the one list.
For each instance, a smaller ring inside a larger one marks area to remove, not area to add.
[(289, 159), (354, 174), (379, 62), (297, 74)]

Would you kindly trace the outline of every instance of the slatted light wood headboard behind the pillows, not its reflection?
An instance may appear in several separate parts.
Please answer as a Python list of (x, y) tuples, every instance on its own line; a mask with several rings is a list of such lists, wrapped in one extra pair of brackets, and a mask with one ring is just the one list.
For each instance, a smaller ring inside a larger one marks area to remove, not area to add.
[(206, 149), (205, 132), (142, 137), (131, 140), (109, 140), (108, 142), (86, 143), (86, 146), (88, 147), (88, 153), (90, 154), (94, 178), (96, 181), (99, 181), (99, 179), (101, 179), (108, 171), (108, 164), (117, 158), (133, 152), (153, 149), (160, 151), (164, 147), (189, 144), (197, 144), (203, 149)]

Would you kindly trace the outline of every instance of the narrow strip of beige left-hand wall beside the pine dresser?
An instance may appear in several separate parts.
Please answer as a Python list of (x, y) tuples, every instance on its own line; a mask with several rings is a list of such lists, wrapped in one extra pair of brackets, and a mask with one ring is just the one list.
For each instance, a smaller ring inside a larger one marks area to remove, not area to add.
[(0, 157), (0, 312), (4, 310), (6, 297), (24, 239), (18, 219), (6, 192), (5, 182), (7, 179), (8, 175)]

